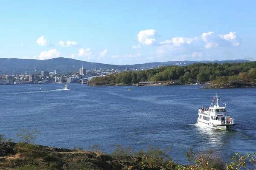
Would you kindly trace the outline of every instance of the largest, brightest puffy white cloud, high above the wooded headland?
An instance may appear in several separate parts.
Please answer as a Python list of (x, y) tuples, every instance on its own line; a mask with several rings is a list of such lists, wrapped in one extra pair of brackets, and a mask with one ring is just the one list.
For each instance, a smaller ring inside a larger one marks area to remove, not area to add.
[(138, 41), (145, 45), (151, 45), (152, 43), (156, 42), (156, 39), (154, 38), (157, 34), (157, 31), (154, 29), (146, 29), (143, 31), (140, 31), (138, 36)]

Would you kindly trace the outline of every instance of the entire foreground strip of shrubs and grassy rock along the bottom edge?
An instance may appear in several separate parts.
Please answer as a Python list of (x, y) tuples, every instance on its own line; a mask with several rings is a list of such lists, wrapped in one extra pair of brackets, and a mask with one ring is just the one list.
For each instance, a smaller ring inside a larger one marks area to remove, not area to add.
[(0, 134), (0, 169), (3, 170), (240, 170), (256, 168), (256, 155), (240, 156), (236, 153), (231, 163), (224, 165), (214, 151), (196, 153), (192, 149), (185, 154), (190, 165), (178, 164), (170, 158), (167, 149), (148, 146), (134, 151), (117, 144), (113, 153), (102, 153), (100, 145), (61, 149), (32, 144), (40, 135), (37, 130), (23, 130), (17, 134), (22, 142), (14, 143)]

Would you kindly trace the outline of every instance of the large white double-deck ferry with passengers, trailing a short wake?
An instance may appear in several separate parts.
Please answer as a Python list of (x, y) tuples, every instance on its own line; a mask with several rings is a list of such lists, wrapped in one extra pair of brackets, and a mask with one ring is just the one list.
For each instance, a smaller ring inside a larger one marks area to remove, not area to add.
[(218, 94), (213, 96), (209, 108), (198, 109), (198, 125), (221, 130), (227, 130), (236, 125), (235, 120), (227, 114), (227, 105), (223, 104)]

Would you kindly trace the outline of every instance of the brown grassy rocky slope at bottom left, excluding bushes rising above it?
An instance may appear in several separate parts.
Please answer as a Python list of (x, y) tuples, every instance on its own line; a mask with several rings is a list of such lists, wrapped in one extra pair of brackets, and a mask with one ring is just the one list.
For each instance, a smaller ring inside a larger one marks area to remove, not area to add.
[[(110, 155), (101, 151), (83, 151), (47, 147), (24, 142), (0, 142), (1, 170), (168, 170), (168, 161), (143, 163), (142, 157), (122, 154)], [(163, 163), (162, 166), (160, 166)], [(171, 167), (175, 167), (173, 164)]]

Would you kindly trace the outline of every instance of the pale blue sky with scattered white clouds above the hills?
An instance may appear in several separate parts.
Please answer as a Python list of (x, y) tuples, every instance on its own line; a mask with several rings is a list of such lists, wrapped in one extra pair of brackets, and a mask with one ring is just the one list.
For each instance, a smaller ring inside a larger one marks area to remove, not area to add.
[(2, 0), (0, 58), (256, 60), (255, 0)]

